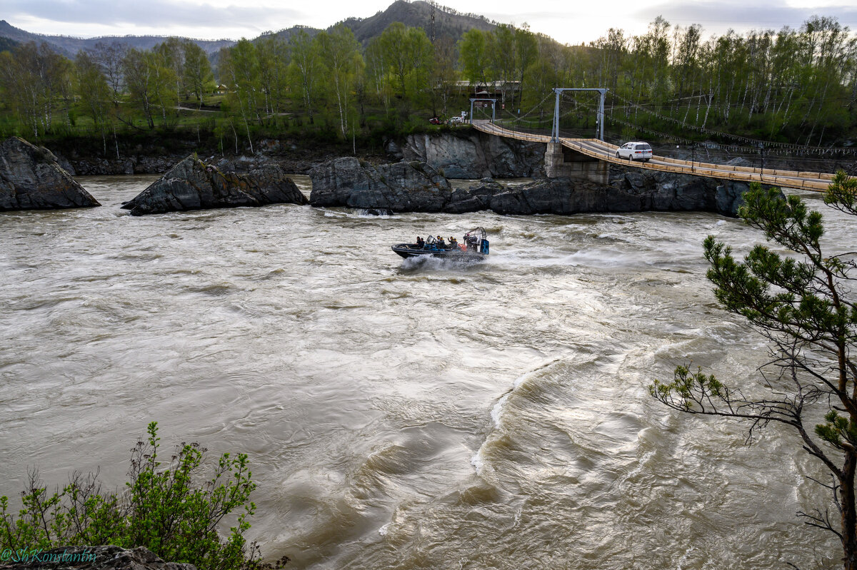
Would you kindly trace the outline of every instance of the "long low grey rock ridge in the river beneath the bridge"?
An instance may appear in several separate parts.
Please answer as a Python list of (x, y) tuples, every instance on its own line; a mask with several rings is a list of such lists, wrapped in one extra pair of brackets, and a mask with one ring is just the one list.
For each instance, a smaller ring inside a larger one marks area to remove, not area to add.
[(310, 173), (310, 204), (389, 211), (443, 211), (459, 214), (491, 210), (498, 214), (578, 214), (608, 211), (711, 211), (735, 216), (741, 182), (716, 181), (692, 175), (614, 172), (611, 185), (569, 178), (542, 179), (502, 187), (485, 179), (467, 188), (452, 188), (424, 163), (361, 165), (340, 158)]

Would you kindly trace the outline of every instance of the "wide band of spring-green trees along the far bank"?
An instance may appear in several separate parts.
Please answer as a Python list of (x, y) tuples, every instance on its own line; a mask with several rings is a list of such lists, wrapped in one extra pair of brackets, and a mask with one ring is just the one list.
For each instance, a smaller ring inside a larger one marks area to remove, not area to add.
[[(590, 45), (560, 45), (526, 25), (471, 29), (456, 44), (445, 36), (432, 43), (423, 28), (393, 23), (365, 49), (343, 25), (315, 36), (297, 29), (287, 40), (268, 34), (221, 50), (216, 76), (225, 89), (218, 128), (249, 140), (254, 128), (287, 121), (347, 139), (367, 128), (368, 113), (387, 125), (422, 120), (427, 110), (444, 114), (458, 80), (499, 81), (506, 110), (524, 110), (525, 126), (544, 126), (552, 116), (556, 86), (607, 87), (610, 126), (628, 136), (824, 145), (857, 123), (857, 38), (824, 17), (800, 29), (707, 39), (698, 25), (658, 17), (646, 33), (611, 28)], [(177, 39), (151, 50), (99, 44), (75, 62), (45, 45), (17, 45), (0, 52), (0, 114), (5, 128), (13, 116), (21, 134), (33, 137), (73, 129), (79, 116), (100, 134), (117, 125), (173, 128), (179, 102), (201, 107), (214, 78), (206, 53)], [(591, 126), (593, 99), (564, 98), (563, 124)]]

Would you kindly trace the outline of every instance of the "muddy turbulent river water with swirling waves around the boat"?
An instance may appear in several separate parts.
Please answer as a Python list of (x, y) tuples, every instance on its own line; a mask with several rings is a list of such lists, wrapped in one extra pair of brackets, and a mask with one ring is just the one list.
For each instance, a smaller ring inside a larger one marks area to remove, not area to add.
[[(746, 446), (746, 425), (648, 393), (688, 361), (757, 382), (765, 343), (716, 306), (701, 255), (705, 235), (741, 251), (756, 230), (707, 213), (118, 208), (153, 179), (81, 179), (101, 208), (0, 214), (0, 494), (34, 466), (122, 484), (157, 420), (166, 446), (249, 454), (249, 535), (289, 567), (837, 564), (795, 517), (828, 502), (794, 436)], [(857, 241), (806, 198), (829, 245)], [(390, 251), (476, 226), (482, 264)]]

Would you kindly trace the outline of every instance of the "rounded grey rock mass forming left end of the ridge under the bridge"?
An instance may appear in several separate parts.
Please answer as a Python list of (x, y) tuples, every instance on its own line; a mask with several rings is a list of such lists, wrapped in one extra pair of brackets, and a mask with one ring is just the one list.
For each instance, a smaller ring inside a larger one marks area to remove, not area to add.
[(357, 158), (337, 158), (309, 171), (314, 206), (390, 211), (440, 211), (449, 200), (449, 181), (426, 163), (372, 166)]

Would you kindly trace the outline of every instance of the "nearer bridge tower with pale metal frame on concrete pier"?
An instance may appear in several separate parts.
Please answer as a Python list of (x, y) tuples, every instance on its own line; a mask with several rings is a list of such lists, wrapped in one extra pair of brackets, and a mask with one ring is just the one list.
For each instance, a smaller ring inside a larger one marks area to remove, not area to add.
[(548, 150), (544, 153), (544, 170), (548, 178), (577, 178), (607, 185), (609, 181), (609, 165), (597, 158), (587, 157), (581, 152), (572, 151), (562, 145), (560, 140), (560, 95), (565, 91), (597, 91), (601, 97), (598, 101), (598, 140), (604, 140), (604, 99), (607, 89), (583, 87), (558, 87), (556, 103), (554, 104), (554, 128), (551, 131)]

